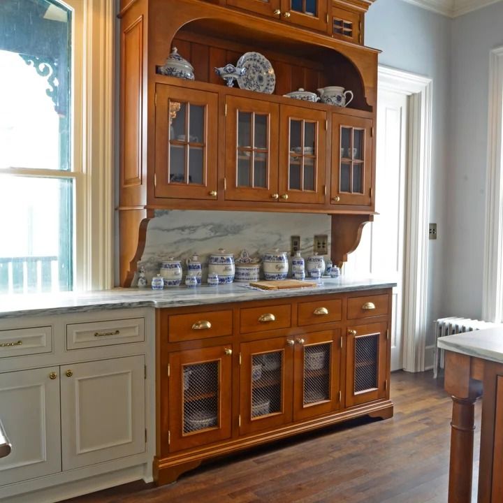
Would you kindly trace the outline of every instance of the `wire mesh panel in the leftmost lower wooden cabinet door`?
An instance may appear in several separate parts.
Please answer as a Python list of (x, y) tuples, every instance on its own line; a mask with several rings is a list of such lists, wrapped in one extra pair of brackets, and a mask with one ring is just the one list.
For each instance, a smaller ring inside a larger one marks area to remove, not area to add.
[(183, 365), (184, 433), (217, 428), (219, 363)]

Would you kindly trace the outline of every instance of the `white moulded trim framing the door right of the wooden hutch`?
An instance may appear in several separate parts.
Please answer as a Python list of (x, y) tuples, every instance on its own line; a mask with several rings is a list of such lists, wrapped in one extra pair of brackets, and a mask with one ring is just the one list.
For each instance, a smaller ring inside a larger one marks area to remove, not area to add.
[(404, 370), (421, 372), (427, 333), (432, 80), (386, 66), (379, 66), (378, 78), (379, 89), (409, 96), (403, 363)]

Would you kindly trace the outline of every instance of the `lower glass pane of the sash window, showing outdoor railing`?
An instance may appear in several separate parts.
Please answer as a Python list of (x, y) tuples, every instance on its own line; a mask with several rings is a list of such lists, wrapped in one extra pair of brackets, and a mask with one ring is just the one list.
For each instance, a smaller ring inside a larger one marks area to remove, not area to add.
[(73, 180), (0, 175), (0, 293), (69, 291)]

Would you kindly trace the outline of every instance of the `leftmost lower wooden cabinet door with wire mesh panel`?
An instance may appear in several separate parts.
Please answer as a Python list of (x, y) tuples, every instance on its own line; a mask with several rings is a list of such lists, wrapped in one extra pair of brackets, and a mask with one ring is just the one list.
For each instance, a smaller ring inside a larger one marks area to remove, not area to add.
[(231, 437), (230, 346), (170, 353), (170, 451)]

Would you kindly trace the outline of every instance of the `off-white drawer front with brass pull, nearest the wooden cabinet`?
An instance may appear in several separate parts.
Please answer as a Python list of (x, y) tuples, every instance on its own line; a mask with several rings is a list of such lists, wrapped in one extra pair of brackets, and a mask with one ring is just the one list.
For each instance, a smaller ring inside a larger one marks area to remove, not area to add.
[(113, 346), (144, 340), (143, 318), (72, 323), (66, 326), (66, 349)]

